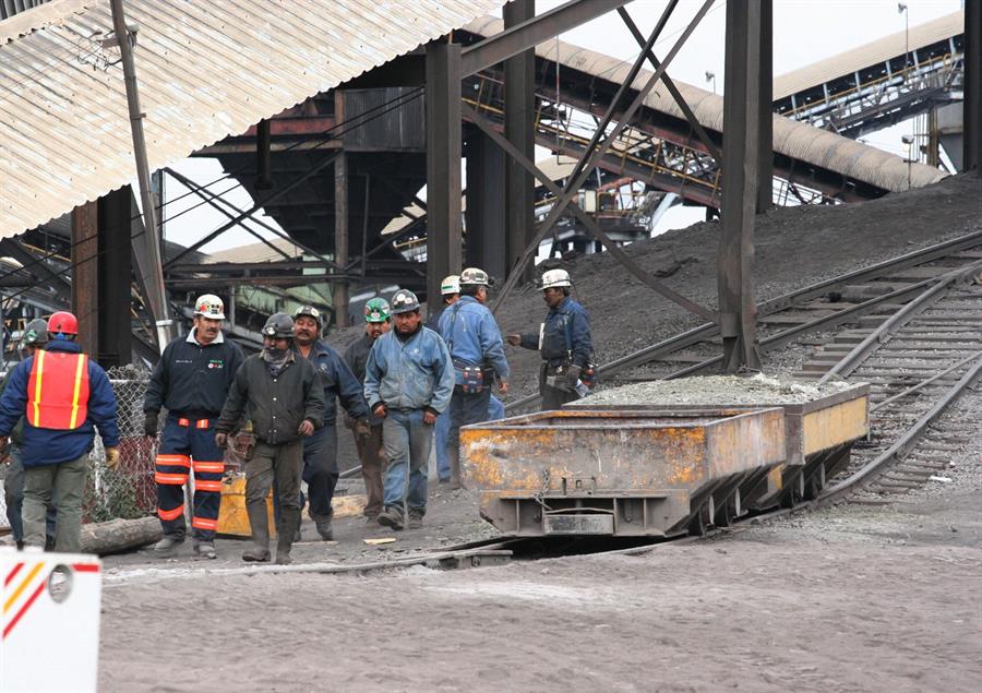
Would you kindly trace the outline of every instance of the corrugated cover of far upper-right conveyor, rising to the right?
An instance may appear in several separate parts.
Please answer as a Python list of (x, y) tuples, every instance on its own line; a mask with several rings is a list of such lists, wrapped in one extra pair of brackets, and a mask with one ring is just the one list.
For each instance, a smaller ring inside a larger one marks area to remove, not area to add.
[(959, 10), (931, 22), (910, 27), (910, 43), (907, 44), (906, 32), (897, 32), (870, 41), (859, 48), (840, 52), (831, 58), (813, 62), (800, 70), (788, 72), (774, 79), (774, 99), (778, 100), (797, 94), (823, 82), (835, 80), (843, 74), (852, 74), (863, 68), (886, 62), (890, 58), (902, 56), (909, 45), (910, 50), (918, 50), (941, 40), (965, 33), (965, 11)]

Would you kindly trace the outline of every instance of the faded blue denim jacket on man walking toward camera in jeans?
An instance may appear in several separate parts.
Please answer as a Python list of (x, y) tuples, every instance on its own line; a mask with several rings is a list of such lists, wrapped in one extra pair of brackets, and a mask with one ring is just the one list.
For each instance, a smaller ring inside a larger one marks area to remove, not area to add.
[(420, 325), (405, 342), (396, 331), (375, 339), (364, 366), (369, 407), (431, 409), (442, 414), (454, 394), (454, 367), (439, 334)]

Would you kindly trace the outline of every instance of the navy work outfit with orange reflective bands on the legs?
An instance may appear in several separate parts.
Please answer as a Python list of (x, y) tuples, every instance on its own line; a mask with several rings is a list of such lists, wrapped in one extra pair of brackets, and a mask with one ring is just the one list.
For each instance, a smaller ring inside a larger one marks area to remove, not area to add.
[(183, 538), (184, 483), (194, 471), (193, 536), (212, 541), (218, 528), (225, 453), (215, 444), (215, 423), (236, 371), (244, 357), (219, 332), (211, 344), (199, 344), (196, 330), (167, 345), (143, 401), (144, 413), (167, 409), (157, 451), (157, 515), (164, 534)]

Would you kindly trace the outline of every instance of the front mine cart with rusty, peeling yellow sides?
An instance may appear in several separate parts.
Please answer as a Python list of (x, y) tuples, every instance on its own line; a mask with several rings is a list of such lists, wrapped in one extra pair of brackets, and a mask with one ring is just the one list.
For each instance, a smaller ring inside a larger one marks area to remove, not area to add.
[[(481, 516), (511, 536), (666, 537), (787, 455), (785, 413), (560, 410), (460, 429)], [(707, 516), (708, 514), (708, 516)]]

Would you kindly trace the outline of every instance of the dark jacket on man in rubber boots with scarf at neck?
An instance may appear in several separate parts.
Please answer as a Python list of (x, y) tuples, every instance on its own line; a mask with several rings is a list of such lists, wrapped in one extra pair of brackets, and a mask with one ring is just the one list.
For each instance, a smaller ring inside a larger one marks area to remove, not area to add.
[(321, 428), (326, 408), (321, 375), (310, 361), (295, 355), (273, 378), (262, 354), (255, 354), (236, 373), (215, 430), (230, 433), (246, 417), (256, 438), (278, 445), (300, 438), (303, 419)]

